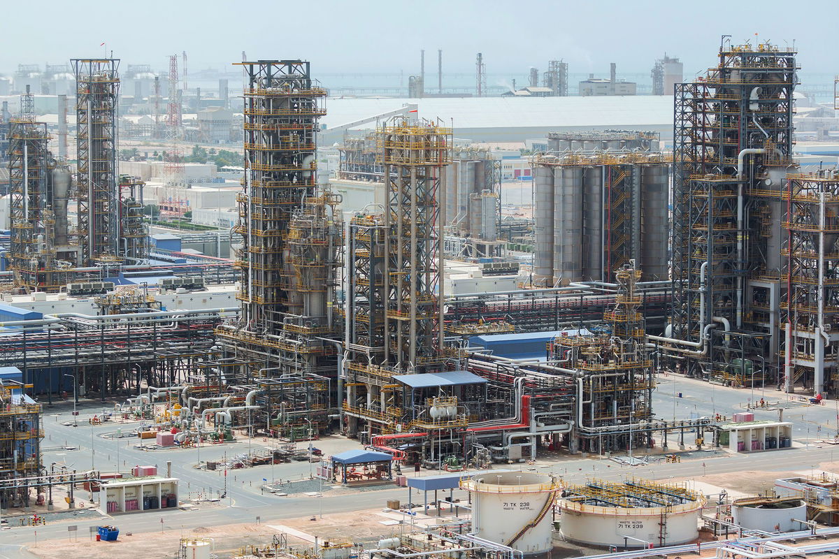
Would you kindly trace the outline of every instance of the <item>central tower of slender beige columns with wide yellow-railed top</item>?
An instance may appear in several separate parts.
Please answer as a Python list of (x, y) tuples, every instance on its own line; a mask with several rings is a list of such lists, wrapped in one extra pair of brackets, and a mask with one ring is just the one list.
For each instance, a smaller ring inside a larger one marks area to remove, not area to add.
[(380, 127), (378, 141), (388, 193), (386, 360), (402, 370), (439, 368), (442, 251), (437, 192), (451, 163), (451, 128), (397, 117)]

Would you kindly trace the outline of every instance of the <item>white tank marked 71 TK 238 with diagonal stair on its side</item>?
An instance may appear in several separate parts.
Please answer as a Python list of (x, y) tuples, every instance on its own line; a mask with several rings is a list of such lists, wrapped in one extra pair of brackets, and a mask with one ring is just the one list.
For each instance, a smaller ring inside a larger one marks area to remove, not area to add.
[(472, 531), (489, 541), (522, 551), (553, 547), (551, 514), (559, 485), (550, 475), (498, 472), (461, 482), (472, 496)]

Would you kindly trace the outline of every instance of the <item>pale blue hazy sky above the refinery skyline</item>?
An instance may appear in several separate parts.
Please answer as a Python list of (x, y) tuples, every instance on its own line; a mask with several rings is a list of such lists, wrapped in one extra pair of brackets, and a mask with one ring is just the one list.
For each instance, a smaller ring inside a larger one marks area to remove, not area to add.
[[(124, 63), (167, 66), (185, 50), (190, 72), (249, 59), (303, 58), (318, 71), (473, 72), (481, 51), (489, 74), (544, 70), (564, 59), (573, 73), (647, 72), (664, 51), (685, 77), (716, 63), (721, 34), (737, 43), (795, 40), (804, 72), (839, 73), (837, 0), (653, 2), (624, 0), (3, 0), (0, 72), (18, 63), (59, 64), (103, 53)], [(524, 69), (524, 70), (523, 70)]]

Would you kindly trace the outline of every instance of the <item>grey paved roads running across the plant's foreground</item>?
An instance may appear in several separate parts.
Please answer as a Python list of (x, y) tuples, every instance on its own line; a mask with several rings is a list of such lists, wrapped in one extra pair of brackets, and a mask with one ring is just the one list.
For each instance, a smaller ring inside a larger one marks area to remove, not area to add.
[[(678, 397), (678, 393), (682, 397)], [(677, 397), (674, 397), (674, 394)], [(764, 396), (765, 395), (765, 396)], [(776, 391), (755, 390), (755, 397), (759, 400), (763, 396), (768, 401), (786, 401), (786, 396)], [(751, 390), (734, 390), (713, 386), (707, 383), (669, 376), (659, 378), (659, 386), (654, 393), (654, 409), (657, 416), (671, 420), (697, 416), (713, 416), (715, 413), (730, 416), (733, 411), (743, 411), (751, 397)], [(134, 437), (122, 439), (108, 439), (100, 435), (115, 432), (117, 424), (106, 423), (91, 427), (87, 417), (100, 412), (100, 404), (88, 403), (80, 407), (79, 426), (65, 427), (62, 422), (72, 421), (71, 406), (63, 403), (48, 409), (44, 413), (44, 427), (47, 436), (44, 438), (44, 463), (65, 464), (77, 470), (92, 467), (102, 471), (112, 471), (117, 468), (117, 448), (121, 468), (126, 471), (134, 464), (156, 463), (161, 473), (165, 473), (165, 463), (172, 461), (172, 475), (181, 480), (180, 494), (184, 499), (190, 492), (204, 491), (212, 494), (224, 493), (225, 480), (219, 472), (206, 472), (196, 469), (195, 463), (204, 460), (216, 460), (227, 455), (248, 451), (248, 443), (240, 442), (224, 445), (202, 446), (199, 448), (177, 448), (170, 450), (143, 451), (135, 448), (138, 439)], [(776, 419), (777, 411), (758, 410), (759, 419)], [(784, 419), (795, 423), (795, 437), (826, 438), (832, 437), (836, 431), (836, 402), (827, 402), (825, 406), (796, 405), (784, 411)], [(821, 426), (821, 432), (818, 428)], [(125, 431), (133, 429), (133, 424), (122, 426)], [(672, 441), (672, 436), (671, 436)], [(261, 439), (254, 439), (253, 448), (262, 445)], [(355, 443), (347, 441), (347, 445)], [(62, 447), (76, 448), (66, 450)], [(92, 448), (92, 452), (91, 452)], [(555, 463), (540, 461), (537, 468), (542, 471), (552, 471), (571, 482), (583, 481), (586, 476), (596, 475), (603, 479), (621, 479), (627, 474), (640, 475), (653, 479), (667, 479), (671, 477), (690, 477), (706, 473), (737, 472), (747, 469), (767, 471), (789, 471), (807, 469), (817, 463), (833, 460), (835, 449), (826, 446), (818, 448), (816, 444), (808, 444), (802, 448), (791, 448), (773, 453), (755, 454), (708, 454), (700, 458), (685, 460), (681, 463), (655, 463), (649, 466), (635, 468), (621, 466), (611, 460), (564, 457)], [(138, 515), (118, 516), (114, 523), (122, 531), (153, 532), (159, 530), (192, 529), (198, 526), (226, 525), (248, 523), (260, 516), (263, 523), (297, 518), (305, 515), (317, 515), (322, 510), (329, 512), (347, 512), (383, 506), (387, 499), (407, 500), (407, 489), (380, 489), (357, 492), (352, 494), (334, 494), (325, 492), (323, 497), (310, 497), (302, 494), (288, 497), (278, 497), (273, 494), (260, 494), (259, 486), (263, 479), (302, 479), (308, 478), (310, 465), (308, 463), (288, 463), (274, 466), (274, 475), (270, 466), (234, 470), (227, 476), (227, 499), (222, 507), (203, 510), (165, 510)], [(426, 473), (427, 474), (427, 473)], [(465, 494), (456, 495), (466, 498)], [(84, 491), (77, 493), (77, 499), (86, 499)], [(421, 499), (415, 497), (414, 500)], [(64, 503), (56, 504), (61, 508)], [(163, 519), (163, 525), (160, 520)], [(73, 517), (72, 520), (62, 520), (47, 525), (33, 527), (14, 527), (0, 532), (0, 559), (29, 558), (25, 546), (34, 543), (35, 531), (39, 540), (64, 538), (67, 536), (67, 525), (75, 524), (79, 527), (79, 535), (88, 534), (88, 526), (102, 524), (101, 517), (88, 512), (85, 515)]]

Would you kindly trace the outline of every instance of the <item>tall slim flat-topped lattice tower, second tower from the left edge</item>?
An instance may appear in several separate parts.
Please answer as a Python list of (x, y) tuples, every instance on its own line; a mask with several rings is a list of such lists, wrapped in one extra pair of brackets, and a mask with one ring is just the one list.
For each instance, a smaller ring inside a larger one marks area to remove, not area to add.
[(76, 75), (79, 239), (86, 266), (117, 259), (117, 59), (70, 60)]

